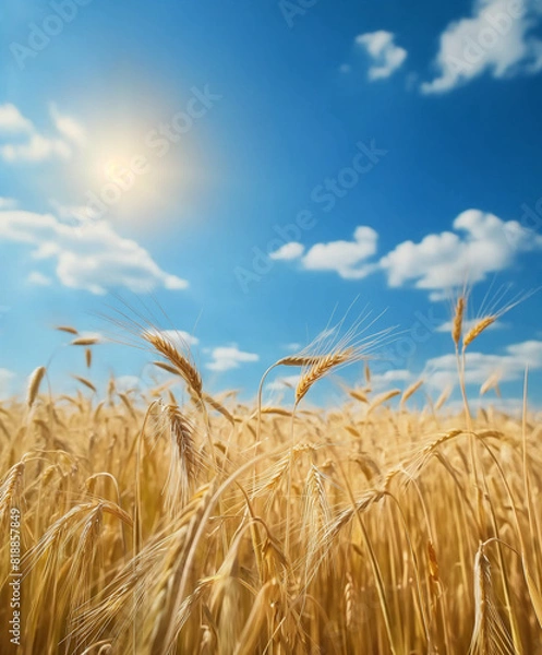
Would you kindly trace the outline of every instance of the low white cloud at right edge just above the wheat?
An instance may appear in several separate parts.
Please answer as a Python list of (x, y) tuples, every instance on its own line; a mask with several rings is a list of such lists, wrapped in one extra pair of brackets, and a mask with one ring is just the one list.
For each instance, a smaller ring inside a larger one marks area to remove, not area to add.
[[(504, 355), (484, 355), (467, 350), (465, 381), (467, 384), (483, 384), (492, 374), (504, 382), (520, 380), (526, 367), (530, 371), (542, 369), (542, 341), (527, 341), (505, 348)], [(444, 389), (458, 381), (455, 355), (429, 359), (422, 373), (427, 384)]]

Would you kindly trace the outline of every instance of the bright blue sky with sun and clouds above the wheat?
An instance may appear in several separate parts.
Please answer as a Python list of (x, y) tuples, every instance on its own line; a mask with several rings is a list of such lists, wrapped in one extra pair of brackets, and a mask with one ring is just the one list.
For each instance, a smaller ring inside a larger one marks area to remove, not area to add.
[[(2, 395), (53, 353), (55, 389), (86, 374), (52, 327), (122, 340), (119, 298), (250, 395), (358, 298), (398, 326), (375, 385), (436, 397), (455, 289), (474, 319), (540, 284), (539, 0), (2, 5)], [(101, 344), (91, 377), (150, 359)], [(540, 405), (538, 294), (473, 344), (473, 397), (526, 362)]]

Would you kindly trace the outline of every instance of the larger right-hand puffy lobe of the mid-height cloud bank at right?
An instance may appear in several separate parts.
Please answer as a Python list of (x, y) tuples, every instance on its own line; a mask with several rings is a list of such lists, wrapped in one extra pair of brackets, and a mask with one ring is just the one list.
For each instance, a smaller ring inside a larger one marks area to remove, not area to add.
[(515, 255), (542, 250), (542, 237), (493, 214), (468, 210), (453, 224), (456, 233), (427, 235), (419, 243), (404, 241), (380, 265), (393, 287), (414, 282), (421, 289), (442, 290), (473, 284), (510, 266)]

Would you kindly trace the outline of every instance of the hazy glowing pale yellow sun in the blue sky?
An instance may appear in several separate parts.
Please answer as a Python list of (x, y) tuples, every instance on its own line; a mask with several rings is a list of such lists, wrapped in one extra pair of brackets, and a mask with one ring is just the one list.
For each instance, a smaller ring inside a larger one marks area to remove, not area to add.
[[(97, 121), (84, 150), (72, 162), (68, 179), (76, 189), (73, 204), (86, 215), (154, 229), (157, 223), (189, 215), (202, 175), (198, 155), (186, 135), (166, 153), (149, 139), (155, 123), (131, 117), (123, 122)], [(149, 127), (150, 126), (150, 127)], [(190, 219), (190, 215), (188, 216)]]

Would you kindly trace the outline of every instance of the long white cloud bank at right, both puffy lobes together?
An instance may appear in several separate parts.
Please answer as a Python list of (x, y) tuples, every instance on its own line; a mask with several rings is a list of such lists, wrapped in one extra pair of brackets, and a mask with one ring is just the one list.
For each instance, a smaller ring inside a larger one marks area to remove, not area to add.
[(297, 259), (305, 271), (333, 271), (345, 279), (362, 279), (383, 271), (390, 287), (413, 284), (430, 291), (431, 300), (443, 300), (447, 291), (467, 281), (475, 284), (508, 269), (518, 254), (542, 250), (541, 235), (517, 221), (503, 221), (480, 210), (459, 214), (453, 230), (427, 235), (420, 242), (402, 241), (371, 261), (378, 235), (371, 227), (359, 226), (352, 241), (316, 243), (304, 255), (288, 259)]

